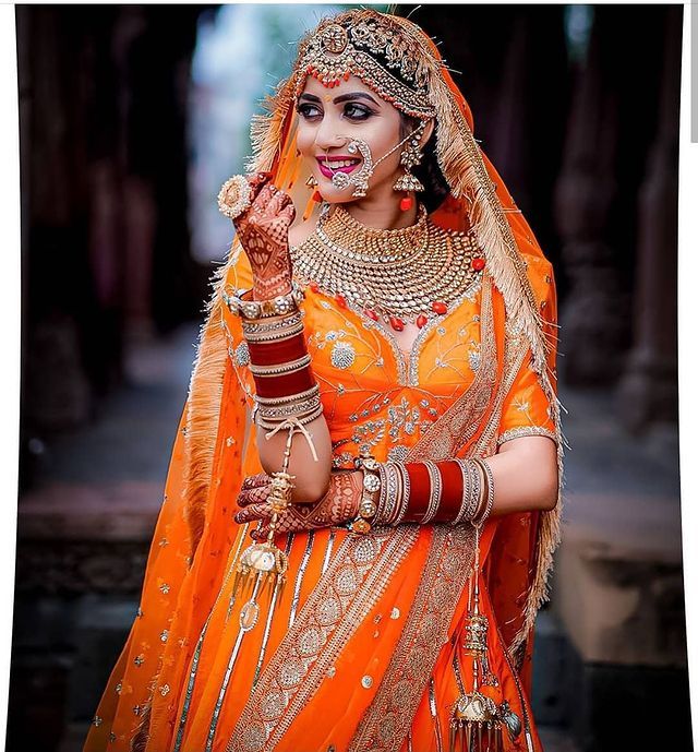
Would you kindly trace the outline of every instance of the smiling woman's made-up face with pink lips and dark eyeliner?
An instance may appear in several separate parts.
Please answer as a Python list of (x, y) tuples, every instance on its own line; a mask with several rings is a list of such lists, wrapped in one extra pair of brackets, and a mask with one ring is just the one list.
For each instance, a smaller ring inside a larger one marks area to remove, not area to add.
[[(329, 203), (352, 201), (353, 186), (339, 190), (332, 183), (335, 171), (352, 174), (361, 169), (361, 154), (350, 154), (347, 150), (352, 139), (361, 139), (369, 144), (375, 163), (404, 138), (399, 110), (381, 99), (354, 75), (333, 88), (326, 88), (309, 75), (297, 109), (298, 148), (310, 164), (317, 190)], [(368, 196), (393, 189), (402, 171), (401, 151), (401, 147), (396, 148), (375, 167), (369, 179)]]

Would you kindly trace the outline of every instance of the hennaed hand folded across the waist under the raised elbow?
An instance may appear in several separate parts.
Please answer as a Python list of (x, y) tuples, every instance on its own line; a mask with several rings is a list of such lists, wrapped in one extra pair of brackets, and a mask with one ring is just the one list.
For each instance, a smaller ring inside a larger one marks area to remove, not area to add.
[[(354, 520), (359, 513), (363, 474), (361, 470), (333, 473), (325, 496), (314, 504), (291, 504), (281, 512), (276, 524), (276, 533), (297, 533), (313, 530), (332, 525), (341, 525)], [(270, 478), (264, 474), (245, 478), (238, 497), (241, 508), (234, 516), (237, 523), (261, 521), (262, 527), (252, 532), (255, 540), (266, 538), (272, 518), (272, 505), (267, 501), (272, 490)]]

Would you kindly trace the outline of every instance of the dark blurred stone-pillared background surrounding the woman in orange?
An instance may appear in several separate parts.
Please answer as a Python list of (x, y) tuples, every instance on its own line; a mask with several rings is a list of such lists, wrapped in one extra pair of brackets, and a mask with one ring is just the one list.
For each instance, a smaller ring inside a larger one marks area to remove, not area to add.
[[(333, 5), (20, 5), (21, 492), (8, 750), (77, 752), (135, 610), (231, 227), (222, 181)], [(378, 7), (381, 8), (381, 7)], [(555, 265), (549, 752), (691, 749), (678, 494), (682, 5), (398, 5)], [(669, 735), (669, 736), (667, 736)], [(419, 752), (419, 751), (416, 751)]]

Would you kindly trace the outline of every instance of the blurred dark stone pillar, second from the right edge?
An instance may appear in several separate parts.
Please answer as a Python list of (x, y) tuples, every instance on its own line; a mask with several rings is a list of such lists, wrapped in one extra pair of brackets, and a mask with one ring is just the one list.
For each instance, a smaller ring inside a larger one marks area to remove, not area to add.
[[(627, 33), (627, 20), (600, 19), (595, 8), (586, 64), (574, 93), (563, 168), (555, 188), (555, 215), (569, 280), (562, 307), (564, 380), (571, 385), (617, 378), (627, 320), (615, 250), (607, 241), (616, 195), (617, 99), (609, 91), (604, 51)], [(619, 22), (619, 23), (618, 23)]]

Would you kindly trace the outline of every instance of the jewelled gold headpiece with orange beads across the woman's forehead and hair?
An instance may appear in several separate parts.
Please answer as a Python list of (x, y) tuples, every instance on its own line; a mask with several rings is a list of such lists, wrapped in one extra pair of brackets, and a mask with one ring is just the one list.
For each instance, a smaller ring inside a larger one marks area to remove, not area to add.
[(294, 96), (306, 75), (336, 86), (353, 74), (406, 115), (433, 118), (429, 68), (438, 61), (423, 49), (418, 52), (418, 43), (387, 15), (354, 11), (327, 19), (300, 44)]

